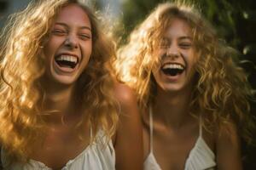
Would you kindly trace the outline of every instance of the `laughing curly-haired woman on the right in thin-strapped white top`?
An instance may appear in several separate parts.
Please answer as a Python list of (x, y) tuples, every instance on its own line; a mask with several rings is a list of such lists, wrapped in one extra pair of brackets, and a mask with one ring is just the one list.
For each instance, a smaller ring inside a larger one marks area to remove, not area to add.
[(144, 170), (240, 170), (253, 93), (207, 20), (192, 4), (163, 3), (128, 40), (116, 65), (137, 92)]

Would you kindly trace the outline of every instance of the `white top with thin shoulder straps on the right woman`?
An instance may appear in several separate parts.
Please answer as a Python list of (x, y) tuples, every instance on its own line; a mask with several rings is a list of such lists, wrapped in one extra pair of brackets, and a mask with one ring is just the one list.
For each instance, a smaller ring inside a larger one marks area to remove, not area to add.
[[(144, 161), (144, 170), (161, 170), (160, 165), (157, 163), (153, 153), (153, 116), (151, 108), (149, 109), (149, 128), (150, 151), (148, 157)], [(199, 137), (195, 142), (194, 148), (189, 152), (184, 170), (213, 170), (215, 166), (215, 155), (202, 138), (200, 119)]]

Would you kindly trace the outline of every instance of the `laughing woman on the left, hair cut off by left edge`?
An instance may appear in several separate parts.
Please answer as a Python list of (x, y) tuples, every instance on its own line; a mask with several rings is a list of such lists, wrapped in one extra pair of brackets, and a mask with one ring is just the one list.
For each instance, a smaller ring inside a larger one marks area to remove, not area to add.
[(113, 77), (104, 28), (77, 0), (34, 0), (9, 20), (0, 49), (3, 169), (143, 168), (136, 97)]

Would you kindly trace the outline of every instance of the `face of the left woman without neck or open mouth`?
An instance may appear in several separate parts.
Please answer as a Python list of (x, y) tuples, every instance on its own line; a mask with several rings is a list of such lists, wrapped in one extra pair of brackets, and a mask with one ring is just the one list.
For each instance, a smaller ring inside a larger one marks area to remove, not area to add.
[[(44, 45), (47, 80), (66, 85), (76, 82), (88, 64), (91, 46), (91, 26), (87, 14), (75, 4), (63, 8)], [(79, 64), (74, 69), (60, 67), (55, 58), (61, 54), (78, 57)]]

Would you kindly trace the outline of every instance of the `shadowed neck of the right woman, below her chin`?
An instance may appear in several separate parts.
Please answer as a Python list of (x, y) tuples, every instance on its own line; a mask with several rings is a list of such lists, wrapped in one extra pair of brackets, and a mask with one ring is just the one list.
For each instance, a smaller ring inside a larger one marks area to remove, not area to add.
[(189, 116), (190, 97), (190, 88), (172, 93), (158, 88), (152, 109), (154, 120), (162, 122), (166, 127), (181, 127), (191, 118)]

